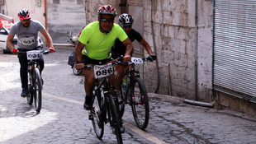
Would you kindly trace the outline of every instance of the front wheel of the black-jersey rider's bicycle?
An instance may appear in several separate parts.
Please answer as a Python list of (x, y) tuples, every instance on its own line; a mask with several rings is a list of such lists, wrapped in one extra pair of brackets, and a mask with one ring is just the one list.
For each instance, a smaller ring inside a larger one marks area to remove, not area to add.
[(149, 98), (143, 81), (140, 77), (132, 80), (131, 109), (138, 128), (145, 129), (149, 123)]

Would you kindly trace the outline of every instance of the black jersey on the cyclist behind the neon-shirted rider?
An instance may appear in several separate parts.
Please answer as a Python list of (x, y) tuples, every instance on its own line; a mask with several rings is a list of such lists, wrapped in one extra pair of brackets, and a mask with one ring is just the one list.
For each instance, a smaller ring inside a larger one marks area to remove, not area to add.
[[(140, 42), (143, 39), (143, 37), (140, 35), (140, 33), (134, 29), (130, 30), (128, 37), (131, 42), (135, 41), (135, 39), (138, 42)], [(126, 53), (126, 45), (124, 45), (119, 39), (116, 39), (115, 44), (113, 45), (113, 47), (111, 49), (111, 57), (118, 58), (121, 55), (124, 56), (125, 53)]]

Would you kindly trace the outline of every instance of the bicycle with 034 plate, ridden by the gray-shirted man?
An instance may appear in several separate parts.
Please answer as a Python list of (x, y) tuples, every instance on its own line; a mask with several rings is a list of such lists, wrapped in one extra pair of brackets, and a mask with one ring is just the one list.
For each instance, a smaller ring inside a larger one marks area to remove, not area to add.
[(17, 53), (26, 53), (26, 58), (28, 61), (28, 96), (26, 96), (26, 101), (28, 105), (33, 104), (33, 99), (35, 102), (36, 112), (40, 112), (42, 105), (42, 78), (40, 75), (39, 63), (36, 62), (40, 59), (40, 53), (47, 54), (50, 53), (49, 50), (30, 50), (30, 51), (20, 51)]

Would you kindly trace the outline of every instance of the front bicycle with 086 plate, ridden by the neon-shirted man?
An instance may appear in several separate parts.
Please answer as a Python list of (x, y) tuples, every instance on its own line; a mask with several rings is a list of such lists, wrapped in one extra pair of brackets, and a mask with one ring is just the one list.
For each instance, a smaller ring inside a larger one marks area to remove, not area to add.
[[(111, 86), (109, 77), (114, 72), (116, 62), (107, 65), (87, 65), (83, 67), (86, 70), (94, 69), (96, 79), (94, 90), (92, 91), (92, 109), (89, 112), (89, 119), (92, 120), (92, 126), (98, 139), (102, 139), (104, 134), (104, 123), (110, 123), (114, 129), (117, 142), (122, 143), (121, 121), (119, 114), (119, 105), (116, 96), (115, 86)], [(80, 68), (78, 68), (80, 69)]]

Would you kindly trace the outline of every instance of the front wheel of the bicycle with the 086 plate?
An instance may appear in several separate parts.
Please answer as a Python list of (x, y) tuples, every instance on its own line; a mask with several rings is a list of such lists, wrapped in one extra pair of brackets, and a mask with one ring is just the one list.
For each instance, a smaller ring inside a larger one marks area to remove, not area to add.
[(111, 111), (111, 126), (114, 128), (114, 132), (116, 135), (116, 140), (117, 143), (122, 144), (123, 140), (121, 137), (121, 130), (120, 130), (120, 122), (119, 122), (119, 117), (118, 117), (118, 112), (117, 112), (117, 107), (115, 100), (113, 99), (113, 95), (109, 95), (109, 109)]

